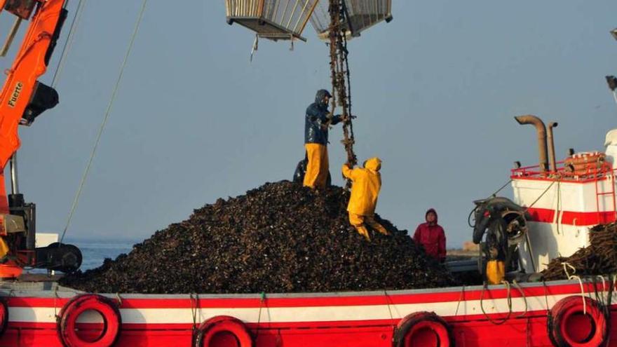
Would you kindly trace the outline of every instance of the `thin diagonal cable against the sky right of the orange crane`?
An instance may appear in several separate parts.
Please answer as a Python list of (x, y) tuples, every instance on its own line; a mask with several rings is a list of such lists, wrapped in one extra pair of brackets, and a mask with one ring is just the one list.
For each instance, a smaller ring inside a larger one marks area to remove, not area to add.
[(81, 182), (79, 182), (79, 188), (77, 189), (77, 193), (75, 194), (75, 198), (73, 200), (73, 204), (71, 206), (71, 210), (69, 212), (69, 217), (67, 219), (67, 225), (65, 226), (64, 231), (62, 231), (62, 237), (60, 238), (60, 242), (58, 243), (58, 247), (62, 243), (62, 240), (65, 238), (67, 230), (69, 229), (69, 225), (71, 224), (71, 220), (73, 219), (73, 215), (75, 213), (75, 209), (77, 207), (77, 203), (79, 202), (79, 196), (81, 196), (81, 191), (83, 190), (83, 185), (86, 184), (86, 178), (88, 177), (88, 172), (90, 172), (90, 166), (92, 166), (92, 162), (94, 160), (94, 156), (97, 151), (97, 147), (99, 146), (99, 142), (101, 140), (101, 135), (107, 125), (107, 120), (109, 119), (109, 114), (111, 114), (111, 107), (114, 105), (116, 101), (116, 95), (118, 93), (118, 89), (120, 88), (120, 82), (122, 81), (122, 76), (124, 74), (124, 69), (126, 68), (126, 62), (128, 61), (128, 57), (130, 55), (131, 50), (133, 50), (133, 44), (135, 43), (135, 37), (137, 37), (137, 32), (139, 32), (140, 24), (142, 22), (142, 18), (144, 17), (144, 12), (146, 11), (146, 5), (148, 0), (144, 0), (142, 3), (142, 8), (137, 17), (137, 22), (135, 23), (135, 29), (133, 29), (133, 35), (130, 37), (130, 42), (128, 44), (128, 49), (126, 50), (126, 55), (124, 55), (124, 60), (120, 67), (120, 73), (118, 74), (118, 79), (116, 80), (116, 85), (114, 86), (114, 90), (111, 93), (111, 98), (109, 100), (109, 104), (107, 104), (107, 110), (105, 111), (105, 115), (103, 117), (103, 121), (97, 133), (97, 137), (94, 143), (94, 147), (92, 149), (92, 153), (90, 153), (90, 158), (88, 159), (88, 165), (86, 165), (86, 170), (83, 171), (83, 176), (81, 177)]

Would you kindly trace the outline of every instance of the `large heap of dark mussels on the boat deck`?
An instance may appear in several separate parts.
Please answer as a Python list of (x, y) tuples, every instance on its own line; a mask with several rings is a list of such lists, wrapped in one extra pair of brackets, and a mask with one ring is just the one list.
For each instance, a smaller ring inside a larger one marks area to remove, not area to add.
[(194, 210), (61, 285), (107, 293), (283, 293), (443, 287), (452, 276), (393, 224), (367, 242), (349, 225), (348, 192), (266, 183)]

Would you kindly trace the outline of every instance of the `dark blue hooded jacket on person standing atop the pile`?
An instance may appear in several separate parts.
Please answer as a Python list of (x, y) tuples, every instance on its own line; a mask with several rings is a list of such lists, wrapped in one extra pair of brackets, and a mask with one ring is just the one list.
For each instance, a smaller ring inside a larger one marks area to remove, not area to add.
[(327, 118), (330, 113), (327, 104), (323, 102), (324, 97), (330, 95), (327, 90), (317, 91), (315, 102), (306, 108), (306, 118), (304, 120), (304, 143), (327, 145), (328, 121), (330, 125), (335, 125), (341, 121), (341, 116), (334, 116), (332, 120)]

